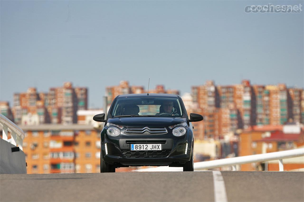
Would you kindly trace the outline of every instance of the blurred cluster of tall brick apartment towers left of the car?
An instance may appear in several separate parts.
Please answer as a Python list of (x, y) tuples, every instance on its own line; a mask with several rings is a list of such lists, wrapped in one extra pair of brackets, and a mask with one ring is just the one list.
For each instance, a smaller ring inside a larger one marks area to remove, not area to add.
[(64, 82), (48, 93), (38, 93), (36, 88), (15, 93), (12, 112), (16, 124), (72, 124), (77, 123), (77, 110), (87, 107), (87, 88), (74, 88), (71, 82)]

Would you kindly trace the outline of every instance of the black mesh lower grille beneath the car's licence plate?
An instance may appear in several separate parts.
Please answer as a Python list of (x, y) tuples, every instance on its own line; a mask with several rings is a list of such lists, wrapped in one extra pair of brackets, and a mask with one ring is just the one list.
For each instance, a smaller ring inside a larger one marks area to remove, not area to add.
[(123, 156), (129, 158), (162, 158), (167, 157), (171, 150), (153, 150), (153, 151), (131, 151), (124, 150)]

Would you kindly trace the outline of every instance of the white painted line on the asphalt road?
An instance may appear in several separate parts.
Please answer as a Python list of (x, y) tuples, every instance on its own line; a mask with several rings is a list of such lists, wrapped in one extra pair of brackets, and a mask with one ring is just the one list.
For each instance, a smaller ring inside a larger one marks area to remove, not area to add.
[(225, 182), (221, 171), (212, 171), (212, 175), (213, 175), (214, 201), (227, 202)]

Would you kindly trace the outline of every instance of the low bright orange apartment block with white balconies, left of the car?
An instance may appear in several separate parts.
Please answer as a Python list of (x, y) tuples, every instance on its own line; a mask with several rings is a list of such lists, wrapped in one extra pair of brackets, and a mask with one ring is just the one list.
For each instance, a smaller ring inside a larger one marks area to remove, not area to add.
[(23, 125), (27, 173), (100, 172), (100, 131), (92, 125)]

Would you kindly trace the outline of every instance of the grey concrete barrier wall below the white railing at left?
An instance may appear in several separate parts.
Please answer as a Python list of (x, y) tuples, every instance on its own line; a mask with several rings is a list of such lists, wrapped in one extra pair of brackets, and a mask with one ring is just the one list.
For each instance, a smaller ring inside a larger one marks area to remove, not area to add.
[(25, 174), (25, 154), (19, 147), (0, 138), (0, 174)]

